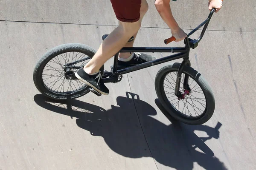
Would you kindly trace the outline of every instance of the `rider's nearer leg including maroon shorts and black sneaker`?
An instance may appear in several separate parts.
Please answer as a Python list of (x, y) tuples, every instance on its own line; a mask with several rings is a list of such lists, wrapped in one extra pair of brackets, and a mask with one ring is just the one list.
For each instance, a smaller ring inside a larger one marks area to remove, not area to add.
[(140, 29), (140, 7), (142, 0), (110, 0), (120, 25), (102, 42), (93, 58), (79, 69), (75, 75), (86, 85), (101, 94), (109, 90), (101, 79), (99, 69), (115, 55), (128, 40)]

